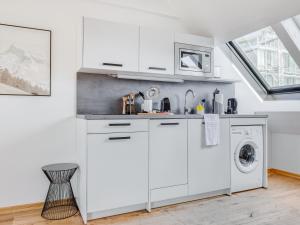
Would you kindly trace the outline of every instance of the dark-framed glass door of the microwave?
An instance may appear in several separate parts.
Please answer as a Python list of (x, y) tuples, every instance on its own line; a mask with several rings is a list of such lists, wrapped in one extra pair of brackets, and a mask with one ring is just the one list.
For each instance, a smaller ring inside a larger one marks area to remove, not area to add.
[(180, 69), (194, 72), (202, 71), (202, 54), (192, 51), (180, 51)]

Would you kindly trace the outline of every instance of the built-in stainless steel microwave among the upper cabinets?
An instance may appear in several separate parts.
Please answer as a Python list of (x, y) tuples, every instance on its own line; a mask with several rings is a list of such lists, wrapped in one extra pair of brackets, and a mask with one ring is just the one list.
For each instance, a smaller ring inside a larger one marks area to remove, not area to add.
[(176, 75), (211, 77), (213, 69), (213, 48), (175, 43)]

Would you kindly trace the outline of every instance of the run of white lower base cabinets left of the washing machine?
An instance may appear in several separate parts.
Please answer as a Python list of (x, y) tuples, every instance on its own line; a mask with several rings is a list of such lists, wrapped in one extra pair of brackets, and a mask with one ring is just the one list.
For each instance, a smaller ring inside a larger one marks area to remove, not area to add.
[(78, 120), (84, 222), (228, 193), (232, 124), (207, 146), (203, 119)]

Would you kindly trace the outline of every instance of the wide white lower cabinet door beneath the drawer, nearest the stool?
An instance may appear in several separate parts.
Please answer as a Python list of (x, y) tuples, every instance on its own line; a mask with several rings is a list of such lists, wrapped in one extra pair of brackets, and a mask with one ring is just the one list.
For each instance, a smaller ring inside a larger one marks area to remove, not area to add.
[(88, 212), (148, 201), (148, 133), (88, 135)]

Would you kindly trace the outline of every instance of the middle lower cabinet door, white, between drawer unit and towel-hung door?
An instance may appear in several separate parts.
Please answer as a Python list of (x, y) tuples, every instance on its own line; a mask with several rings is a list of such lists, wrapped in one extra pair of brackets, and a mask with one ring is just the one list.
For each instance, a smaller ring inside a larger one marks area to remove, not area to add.
[(187, 120), (150, 121), (151, 189), (187, 183)]

